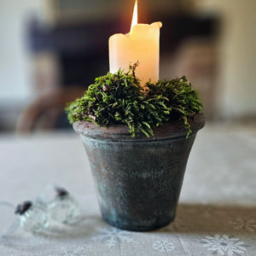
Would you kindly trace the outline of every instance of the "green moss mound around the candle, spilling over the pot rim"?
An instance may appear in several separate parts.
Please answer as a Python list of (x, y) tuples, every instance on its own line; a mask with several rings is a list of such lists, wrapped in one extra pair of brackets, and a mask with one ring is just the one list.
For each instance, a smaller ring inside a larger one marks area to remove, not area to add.
[(148, 82), (143, 91), (135, 76), (136, 65), (128, 73), (108, 73), (95, 79), (84, 96), (68, 103), (70, 123), (87, 120), (96, 125), (128, 125), (131, 136), (143, 132), (153, 136), (153, 129), (171, 119), (183, 119), (187, 137), (191, 133), (188, 118), (201, 111), (202, 105), (185, 77), (171, 81)]

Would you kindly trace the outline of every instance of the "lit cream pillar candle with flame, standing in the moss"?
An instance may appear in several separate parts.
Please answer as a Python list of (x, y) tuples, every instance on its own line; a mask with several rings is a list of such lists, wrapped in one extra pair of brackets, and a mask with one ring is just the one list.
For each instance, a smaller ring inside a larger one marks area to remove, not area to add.
[(161, 22), (151, 25), (137, 24), (137, 0), (134, 6), (131, 31), (127, 34), (114, 34), (109, 38), (110, 73), (119, 68), (128, 71), (129, 66), (139, 61), (136, 69), (142, 85), (159, 80), (159, 45)]

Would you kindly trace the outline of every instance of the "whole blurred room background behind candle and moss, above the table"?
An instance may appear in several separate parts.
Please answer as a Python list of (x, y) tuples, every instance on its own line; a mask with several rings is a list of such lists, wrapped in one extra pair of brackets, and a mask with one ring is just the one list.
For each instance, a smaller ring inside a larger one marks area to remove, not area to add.
[[(186, 75), (209, 122), (256, 119), (255, 0), (140, 0), (162, 21), (160, 79)], [(70, 129), (63, 108), (108, 72), (133, 0), (0, 0), (0, 132)]]

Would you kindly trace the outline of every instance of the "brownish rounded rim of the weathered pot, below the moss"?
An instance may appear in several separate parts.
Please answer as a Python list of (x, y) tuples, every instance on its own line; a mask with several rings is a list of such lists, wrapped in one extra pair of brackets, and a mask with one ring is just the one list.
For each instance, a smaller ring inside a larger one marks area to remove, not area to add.
[[(192, 118), (188, 119), (191, 131), (189, 137), (193, 136), (197, 131), (205, 125), (205, 117), (203, 113), (196, 113)], [(129, 140), (129, 141), (152, 141), (156, 139), (177, 138), (187, 136), (184, 128), (183, 120), (172, 120), (166, 122), (160, 127), (154, 128), (154, 136), (146, 137), (142, 133), (138, 133), (135, 137), (131, 137), (129, 127), (127, 125), (109, 125), (103, 127), (95, 125), (90, 121), (76, 121), (73, 123), (73, 130), (85, 137), (92, 137), (103, 140)]]

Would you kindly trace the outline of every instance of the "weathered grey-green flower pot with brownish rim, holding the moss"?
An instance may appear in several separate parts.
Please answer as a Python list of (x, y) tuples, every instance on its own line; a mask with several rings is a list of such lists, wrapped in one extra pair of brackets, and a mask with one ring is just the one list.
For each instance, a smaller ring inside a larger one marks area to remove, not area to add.
[(154, 130), (154, 137), (131, 137), (125, 125), (108, 128), (76, 122), (90, 160), (102, 217), (124, 230), (155, 230), (175, 218), (183, 175), (196, 132), (205, 124), (201, 113)]

